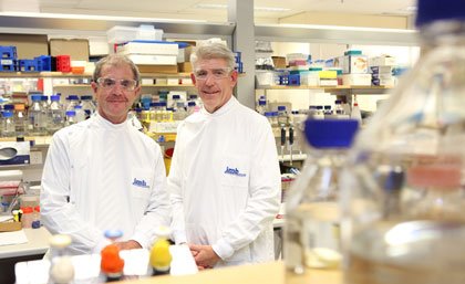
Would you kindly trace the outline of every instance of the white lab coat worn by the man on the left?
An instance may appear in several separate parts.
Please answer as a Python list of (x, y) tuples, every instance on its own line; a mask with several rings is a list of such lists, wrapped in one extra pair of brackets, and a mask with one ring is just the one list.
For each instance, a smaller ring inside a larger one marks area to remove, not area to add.
[(169, 225), (165, 166), (159, 146), (131, 123), (102, 116), (53, 135), (42, 176), (42, 222), (72, 236), (73, 254), (99, 253), (104, 231), (149, 248), (157, 225)]

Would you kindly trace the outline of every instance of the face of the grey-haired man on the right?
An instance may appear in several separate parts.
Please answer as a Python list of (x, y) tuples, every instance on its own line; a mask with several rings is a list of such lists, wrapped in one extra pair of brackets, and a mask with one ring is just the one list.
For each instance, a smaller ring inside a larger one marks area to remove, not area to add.
[(232, 95), (237, 71), (228, 69), (224, 59), (199, 60), (190, 75), (208, 113), (224, 106)]

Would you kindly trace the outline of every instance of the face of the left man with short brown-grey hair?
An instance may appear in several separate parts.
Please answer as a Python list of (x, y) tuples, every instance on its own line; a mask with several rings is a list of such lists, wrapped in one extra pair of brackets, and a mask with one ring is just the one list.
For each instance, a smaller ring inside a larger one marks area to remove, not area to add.
[(141, 86), (134, 84), (130, 66), (104, 65), (97, 82), (92, 83), (99, 114), (113, 124), (125, 122), (128, 109), (141, 92)]

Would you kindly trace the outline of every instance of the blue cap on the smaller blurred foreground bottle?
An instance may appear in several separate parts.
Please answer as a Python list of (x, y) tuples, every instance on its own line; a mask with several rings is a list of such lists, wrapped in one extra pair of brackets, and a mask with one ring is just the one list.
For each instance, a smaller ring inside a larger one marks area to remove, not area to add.
[(307, 119), (306, 138), (314, 148), (349, 148), (358, 128), (355, 119)]

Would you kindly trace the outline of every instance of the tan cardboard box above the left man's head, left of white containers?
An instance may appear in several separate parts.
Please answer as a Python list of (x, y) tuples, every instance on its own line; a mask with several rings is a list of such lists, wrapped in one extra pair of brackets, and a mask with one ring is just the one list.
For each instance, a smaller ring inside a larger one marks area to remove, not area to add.
[(71, 60), (89, 61), (89, 40), (82, 39), (51, 39), (50, 55), (70, 55)]

